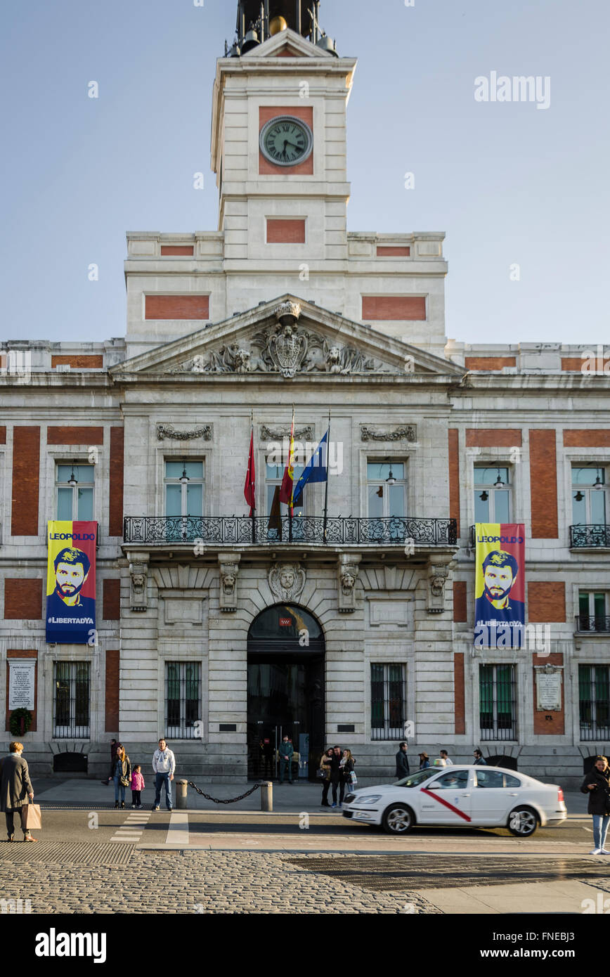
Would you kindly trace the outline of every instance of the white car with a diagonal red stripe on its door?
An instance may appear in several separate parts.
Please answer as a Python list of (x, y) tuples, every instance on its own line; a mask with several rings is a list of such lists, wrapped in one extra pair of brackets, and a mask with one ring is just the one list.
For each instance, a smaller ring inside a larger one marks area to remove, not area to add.
[(567, 817), (563, 790), (502, 767), (428, 767), (396, 784), (348, 793), (343, 817), (406, 834), (415, 825), (508, 828), (526, 838)]

